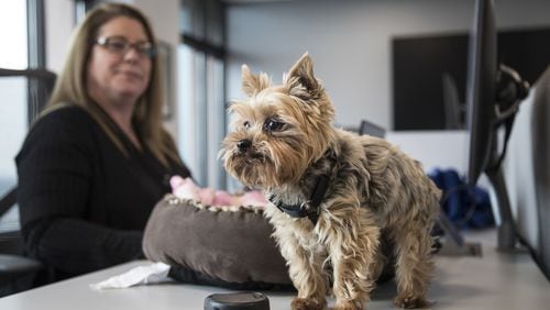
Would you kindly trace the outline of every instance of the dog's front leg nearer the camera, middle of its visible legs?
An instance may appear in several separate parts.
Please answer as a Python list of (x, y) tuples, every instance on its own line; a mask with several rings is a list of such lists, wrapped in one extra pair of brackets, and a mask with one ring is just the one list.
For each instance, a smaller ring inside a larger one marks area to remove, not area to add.
[(374, 217), (363, 208), (338, 202), (330, 207), (330, 220), (320, 220), (333, 267), (334, 309), (363, 309), (374, 286), (370, 267), (380, 243)]

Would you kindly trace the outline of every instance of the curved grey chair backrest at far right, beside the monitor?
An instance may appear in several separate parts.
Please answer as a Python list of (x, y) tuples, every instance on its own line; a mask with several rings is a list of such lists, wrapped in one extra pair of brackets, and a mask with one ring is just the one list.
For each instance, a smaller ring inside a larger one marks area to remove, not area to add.
[(519, 106), (504, 168), (518, 232), (550, 279), (550, 67)]

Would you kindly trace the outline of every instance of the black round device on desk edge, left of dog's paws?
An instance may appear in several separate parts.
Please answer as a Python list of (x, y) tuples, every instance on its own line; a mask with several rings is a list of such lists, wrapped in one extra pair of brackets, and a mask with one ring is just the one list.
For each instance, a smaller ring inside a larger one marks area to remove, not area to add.
[(205, 310), (270, 310), (270, 299), (261, 292), (212, 294), (205, 299)]

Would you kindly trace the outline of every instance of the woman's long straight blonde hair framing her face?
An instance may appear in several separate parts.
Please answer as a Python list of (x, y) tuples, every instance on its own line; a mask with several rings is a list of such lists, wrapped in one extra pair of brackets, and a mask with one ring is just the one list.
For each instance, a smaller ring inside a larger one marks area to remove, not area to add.
[[(117, 147), (128, 156), (124, 144), (108, 125), (108, 115), (91, 99), (86, 87), (88, 62), (95, 44), (94, 41), (103, 24), (119, 16), (140, 22), (147, 38), (156, 43), (150, 22), (138, 9), (122, 3), (103, 3), (96, 7), (73, 33), (65, 67), (57, 78), (52, 97), (42, 114), (67, 104), (81, 107), (98, 122)], [(172, 136), (163, 126), (164, 96), (158, 64), (158, 57), (153, 56), (150, 85), (135, 106), (132, 122), (142, 143), (167, 167), (170, 159), (178, 164), (182, 164), (182, 160)]]

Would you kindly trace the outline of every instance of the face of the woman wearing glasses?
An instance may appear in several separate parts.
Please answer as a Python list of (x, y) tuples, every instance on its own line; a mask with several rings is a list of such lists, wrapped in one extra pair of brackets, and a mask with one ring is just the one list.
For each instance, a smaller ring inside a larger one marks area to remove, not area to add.
[(152, 45), (145, 29), (136, 20), (114, 18), (95, 40), (88, 62), (89, 95), (100, 104), (135, 103), (151, 78), (152, 59), (145, 52)]

